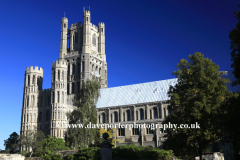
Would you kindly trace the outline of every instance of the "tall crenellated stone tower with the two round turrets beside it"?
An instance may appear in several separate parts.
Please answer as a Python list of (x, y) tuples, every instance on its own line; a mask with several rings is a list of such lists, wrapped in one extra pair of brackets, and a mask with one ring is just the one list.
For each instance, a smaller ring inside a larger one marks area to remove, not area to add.
[(72, 99), (81, 81), (101, 77), (101, 88), (107, 87), (105, 25), (93, 25), (90, 11), (84, 12), (83, 20), (68, 28), (68, 19), (62, 18), (59, 59), (52, 63), (50, 89), (42, 89), (41, 67), (25, 69), (21, 134), (38, 127), (63, 138), (68, 123), (65, 113), (74, 109)]

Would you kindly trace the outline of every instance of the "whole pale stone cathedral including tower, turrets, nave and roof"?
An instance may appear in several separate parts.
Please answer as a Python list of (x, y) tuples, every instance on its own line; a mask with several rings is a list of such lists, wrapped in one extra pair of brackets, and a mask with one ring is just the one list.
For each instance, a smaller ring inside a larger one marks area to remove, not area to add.
[[(177, 79), (107, 88), (105, 24), (92, 24), (90, 11), (84, 11), (83, 21), (68, 28), (68, 19), (62, 18), (59, 59), (52, 63), (50, 89), (42, 89), (41, 67), (25, 69), (21, 135), (38, 127), (50, 136), (64, 138), (66, 112), (75, 108), (72, 99), (81, 81), (93, 77), (101, 78), (101, 97), (97, 102), (99, 124), (161, 124), (170, 114), (167, 91)], [(233, 76), (226, 78), (232, 80)], [(162, 147), (166, 130), (116, 128), (115, 134), (121, 145)]]

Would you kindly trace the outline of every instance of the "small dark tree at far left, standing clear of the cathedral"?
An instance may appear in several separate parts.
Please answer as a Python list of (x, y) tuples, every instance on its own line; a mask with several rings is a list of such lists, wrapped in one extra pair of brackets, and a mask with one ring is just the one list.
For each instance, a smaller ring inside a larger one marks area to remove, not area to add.
[(10, 153), (16, 153), (19, 150), (19, 135), (13, 132), (8, 139), (4, 140), (4, 146)]

